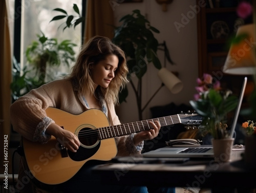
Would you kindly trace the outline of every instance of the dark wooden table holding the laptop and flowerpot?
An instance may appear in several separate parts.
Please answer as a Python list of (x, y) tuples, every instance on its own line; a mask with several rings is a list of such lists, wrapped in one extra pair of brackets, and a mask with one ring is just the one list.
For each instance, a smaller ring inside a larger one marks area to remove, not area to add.
[[(96, 166), (103, 184), (158, 185), (169, 187), (255, 188), (255, 170), (247, 169), (244, 151), (232, 151), (231, 161), (194, 159), (184, 163), (109, 163)], [(216, 191), (217, 192), (217, 191)], [(220, 192), (218, 190), (218, 192)], [(227, 191), (226, 191), (227, 192)]]

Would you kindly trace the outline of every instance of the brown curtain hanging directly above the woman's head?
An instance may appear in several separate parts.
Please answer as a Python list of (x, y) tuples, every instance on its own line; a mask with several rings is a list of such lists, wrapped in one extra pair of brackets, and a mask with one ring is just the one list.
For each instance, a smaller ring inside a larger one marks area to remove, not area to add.
[(87, 0), (84, 42), (95, 35), (114, 37), (114, 10), (110, 1)]

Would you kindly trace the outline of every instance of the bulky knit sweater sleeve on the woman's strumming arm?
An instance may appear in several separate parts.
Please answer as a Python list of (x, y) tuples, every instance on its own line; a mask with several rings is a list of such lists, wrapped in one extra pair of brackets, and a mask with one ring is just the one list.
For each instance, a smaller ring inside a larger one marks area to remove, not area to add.
[(51, 136), (45, 131), (54, 122), (45, 112), (50, 105), (53, 103), (43, 88), (18, 98), (10, 108), (14, 131), (31, 141), (47, 142)]

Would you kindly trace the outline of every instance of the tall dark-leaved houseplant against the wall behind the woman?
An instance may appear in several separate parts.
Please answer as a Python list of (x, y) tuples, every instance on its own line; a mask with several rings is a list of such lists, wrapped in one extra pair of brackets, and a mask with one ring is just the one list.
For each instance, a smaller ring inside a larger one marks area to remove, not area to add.
[[(142, 77), (146, 73), (148, 65), (153, 63), (155, 68), (159, 70), (162, 68), (157, 56), (157, 50), (161, 49), (161, 46), (164, 47), (166, 59), (171, 64), (174, 62), (170, 59), (165, 42), (159, 44), (154, 37), (154, 33), (159, 33), (159, 30), (151, 26), (139, 10), (133, 10), (132, 14), (124, 15), (119, 22), (122, 22), (122, 25), (115, 28), (115, 35), (112, 40), (126, 54), (127, 66), (130, 70), (129, 79), (136, 95), (139, 119), (142, 120), (142, 112), (149, 102), (142, 108)], [(137, 87), (132, 80), (132, 77), (135, 76), (138, 78)], [(125, 101), (127, 95), (127, 88), (124, 88), (119, 95), (119, 103)]]

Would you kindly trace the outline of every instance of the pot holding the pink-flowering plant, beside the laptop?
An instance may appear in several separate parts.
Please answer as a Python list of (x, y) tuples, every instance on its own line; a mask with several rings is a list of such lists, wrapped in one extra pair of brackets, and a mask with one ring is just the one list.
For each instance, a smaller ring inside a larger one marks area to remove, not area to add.
[(212, 147), (214, 148), (215, 161), (228, 162), (233, 147), (234, 138), (212, 139)]

